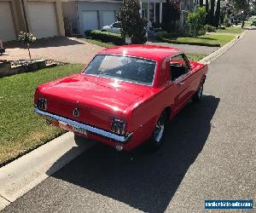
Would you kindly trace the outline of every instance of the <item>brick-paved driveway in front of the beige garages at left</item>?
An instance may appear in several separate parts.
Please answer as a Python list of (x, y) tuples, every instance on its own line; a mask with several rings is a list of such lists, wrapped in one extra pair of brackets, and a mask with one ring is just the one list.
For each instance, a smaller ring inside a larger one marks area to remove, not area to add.
[[(87, 64), (102, 47), (81, 42), (76, 38), (52, 37), (39, 39), (32, 44), (32, 59), (52, 59), (62, 62)], [(6, 44), (6, 52), (0, 60), (29, 59), (26, 46), (18, 42)]]

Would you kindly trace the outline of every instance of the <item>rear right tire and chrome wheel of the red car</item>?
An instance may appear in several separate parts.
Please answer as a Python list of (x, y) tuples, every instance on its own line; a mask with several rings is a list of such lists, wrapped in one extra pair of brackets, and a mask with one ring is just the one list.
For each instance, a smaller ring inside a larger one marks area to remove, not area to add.
[(151, 150), (155, 151), (160, 148), (164, 142), (164, 136), (166, 133), (166, 124), (167, 124), (167, 113), (163, 112), (160, 115), (160, 118), (154, 126), (154, 130), (149, 141), (149, 147)]

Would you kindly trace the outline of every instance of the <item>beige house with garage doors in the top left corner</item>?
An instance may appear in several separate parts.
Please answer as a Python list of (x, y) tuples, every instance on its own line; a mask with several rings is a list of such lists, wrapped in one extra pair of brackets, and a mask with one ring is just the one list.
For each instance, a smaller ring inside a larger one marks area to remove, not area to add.
[(63, 36), (61, 0), (0, 0), (0, 39), (15, 40), (20, 31)]

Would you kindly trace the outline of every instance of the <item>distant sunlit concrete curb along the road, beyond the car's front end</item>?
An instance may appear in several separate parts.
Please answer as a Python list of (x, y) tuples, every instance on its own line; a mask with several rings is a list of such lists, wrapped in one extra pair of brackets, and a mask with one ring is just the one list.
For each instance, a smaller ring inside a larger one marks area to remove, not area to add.
[(226, 51), (228, 51), (235, 43), (237, 43), (241, 37), (244, 37), (244, 35), (247, 33), (248, 30), (245, 30), (241, 34), (237, 35), (233, 40), (231, 40), (229, 43), (226, 43), (223, 47), (217, 49), (212, 54), (207, 55), (203, 59), (199, 60), (201, 63), (209, 64), (212, 62), (212, 60), (217, 59), (219, 56), (223, 55)]

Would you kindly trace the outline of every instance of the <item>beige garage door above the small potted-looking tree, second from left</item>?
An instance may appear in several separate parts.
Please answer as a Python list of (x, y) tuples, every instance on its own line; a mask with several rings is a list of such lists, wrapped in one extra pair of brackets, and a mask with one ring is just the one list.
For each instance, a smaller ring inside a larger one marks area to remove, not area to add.
[(54, 37), (58, 35), (54, 3), (30, 2), (28, 13), (32, 33), (36, 37)]

